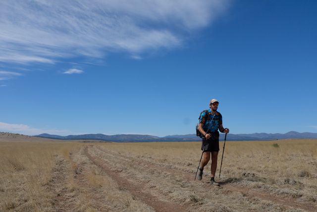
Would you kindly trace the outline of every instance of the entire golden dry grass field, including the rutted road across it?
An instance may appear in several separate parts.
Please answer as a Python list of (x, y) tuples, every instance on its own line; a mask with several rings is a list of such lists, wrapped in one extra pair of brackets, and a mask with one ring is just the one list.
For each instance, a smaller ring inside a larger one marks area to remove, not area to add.
[(317, 211), (317, 140), (222, 141), (221, 186), (200, 145), (2, 135), (0, 211)]

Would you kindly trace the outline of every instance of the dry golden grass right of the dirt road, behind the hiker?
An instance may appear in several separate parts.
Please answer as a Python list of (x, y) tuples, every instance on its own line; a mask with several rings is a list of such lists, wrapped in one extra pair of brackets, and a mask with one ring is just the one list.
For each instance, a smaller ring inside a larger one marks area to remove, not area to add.
[[(196, 173), (201, 156), (200, 142), (99, 144), (113, 154), (175, 166)], [(220, 142), (220, 166), (223, 142)], [(133, 163), (135, 161), (131, 161)], [(126, 163), (129, 166), (130, 163)], [(219, 175), (219, 166), (216, 177)], [(210, 164), (205, 177), (210, 174)], [(155, 175), (155, 172), (153, 172)], [(226, 142), (221, 180), (257, 189), (272, 197), (291, 197), (315, 204), (317, 200), (317, 141), (230, 141)], [(190, 200), (196, 202), (195, 196)], [(263, 202), (265, 205), (265, 201)]]

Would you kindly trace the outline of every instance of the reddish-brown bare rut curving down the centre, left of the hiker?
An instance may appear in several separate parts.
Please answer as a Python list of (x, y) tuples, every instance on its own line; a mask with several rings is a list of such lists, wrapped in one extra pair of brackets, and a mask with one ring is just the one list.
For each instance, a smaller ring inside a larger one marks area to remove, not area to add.
[(178, 205), (172, 202), (160, 201), (157, 197), (147, 192), (144, 192), (143, 190), (144, 186), (142, 184), (136, 183), (136, 182), (131, 183), (125, 178), (119, 176), (118, 173), (114, 173), (113, 171), (110, 170), (110, 168), (108, 168), (108, 166), (106, 166), (105, 163), (102, 163), (100, 160), (98, 160), (98, 158), (96, 158), (95, 156), (92, 156), (88, 151), (88, 147), (86, 147), (84, 151), (85, 151), (85, 155), (94, 164), (102, 168), (114, 181), (117, 182), (119, 186), (125, 188), (136, 198), (142, 200), (144, 203), (154, 208), (155, 211), (157, 212), (186, 211), (186, 207), (183, 207), (181, 205)]

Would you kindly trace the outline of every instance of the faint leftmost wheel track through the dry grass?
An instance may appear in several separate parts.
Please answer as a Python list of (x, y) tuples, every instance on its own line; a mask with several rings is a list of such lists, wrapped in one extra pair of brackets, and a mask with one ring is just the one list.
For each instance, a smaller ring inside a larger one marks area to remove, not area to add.
[[(57, 155), (56, 155), (57, 157)], [(53, 169), (53, 176), (47, 184), (47, 189), (53, 194), (52, 206), (55, 212), (72, 211), (74, 205), (67, 190), (67, 171), (70, 169), (70, 162), (64, 158), (57, 157), (57, 164)]]

